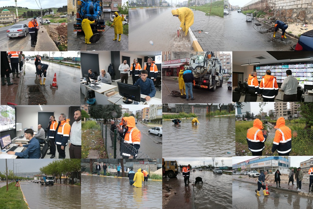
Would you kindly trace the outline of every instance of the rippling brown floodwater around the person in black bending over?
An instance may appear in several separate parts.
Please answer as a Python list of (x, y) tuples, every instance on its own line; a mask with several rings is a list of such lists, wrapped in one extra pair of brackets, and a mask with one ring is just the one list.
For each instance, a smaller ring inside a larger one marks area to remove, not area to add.
[(195, 182), (196, 177), (201, 177), (203, 181), (203, 184), (200, 182), (193, 187), (196, 209), (232, 208), (231, 175), (198, 170), (190, 174), (192, 183)]

